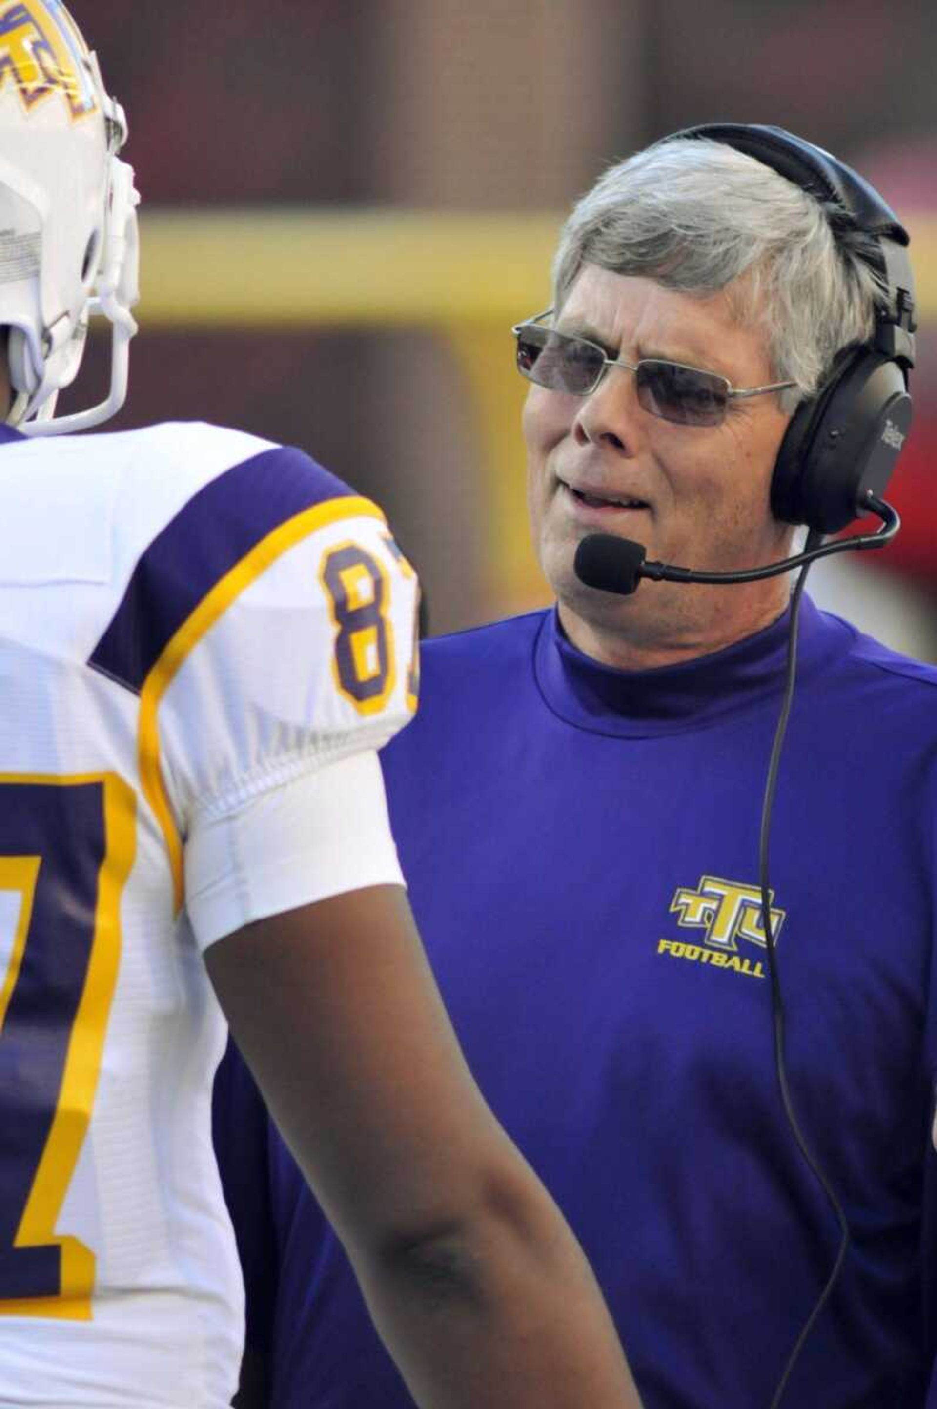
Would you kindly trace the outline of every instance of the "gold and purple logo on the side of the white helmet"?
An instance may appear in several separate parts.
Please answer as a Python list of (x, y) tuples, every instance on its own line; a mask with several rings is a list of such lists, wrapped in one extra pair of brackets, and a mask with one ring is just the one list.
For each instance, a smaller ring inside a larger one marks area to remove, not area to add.
[(58, 0), (0, 4), (0, 92), (14, 85), (27, 113), (58, 99), (73, 120), (94, 113), (85, 42)]

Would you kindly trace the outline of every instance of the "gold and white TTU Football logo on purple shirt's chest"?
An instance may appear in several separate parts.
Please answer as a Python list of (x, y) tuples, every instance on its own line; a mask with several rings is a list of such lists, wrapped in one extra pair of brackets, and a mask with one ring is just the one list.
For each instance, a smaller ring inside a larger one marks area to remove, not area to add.
[[(771, 902), (771, 933), (776, 941), (785, 921), (785, 910), (775, 910), (774, 890)], [(695, 964), (712, 964), (716, 968), (736, 969), (752, 978), (764, 978), (761, 960), (740, 952), (744, 945), (767, 947), (765, 930), (761, 923), (761, 889), (740, 881), (723, 881), (721, 876), (700, 876), (695, 890), (681, 886), (671, 900), (671, 914), (678, 916), (682, 930), (696, 930), (699, 941), (658, 940), (658, 954), (671, 958), (689, 960)]]

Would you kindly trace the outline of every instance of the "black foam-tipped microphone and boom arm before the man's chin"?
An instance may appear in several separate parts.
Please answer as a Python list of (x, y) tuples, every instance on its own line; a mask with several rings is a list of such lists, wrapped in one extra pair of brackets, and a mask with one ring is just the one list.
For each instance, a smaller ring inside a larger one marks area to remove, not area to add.
[(631, 596), (637, 590), (641, 578), (651, 578), (654, 582), (759, 582), (762, 578), (776, 578), (782, 572), (792, 572), (805, 562), (816, 558), (826, 558), (831, 552), (850, 552), (860, 548), (883, 548), (892, 541), (902, 520), (898, 510), (886, 504), (883, 499), (876, 499), (868, 493), (862, 500), (862, 509), (868, 509), (882, 520), (882, 527), (875, 533), (857, 534), (852, 538), (834, 538), (819, 548), (807, 548), (793, 558), (782, 558), (779, 562), (769, 562), (764, 568), (744, 568), (740, 572), (697, 572), (693, 568), (679, 568), (672, 562), (647, 562), (647, 548), (631, 538), (616, 538), (614, 534), (596, 533), (583, 538), (576, 548), (573, 571), (581, 582), (588, 588), (597, 588), (599, 592), (616, 592), (621, 597)]

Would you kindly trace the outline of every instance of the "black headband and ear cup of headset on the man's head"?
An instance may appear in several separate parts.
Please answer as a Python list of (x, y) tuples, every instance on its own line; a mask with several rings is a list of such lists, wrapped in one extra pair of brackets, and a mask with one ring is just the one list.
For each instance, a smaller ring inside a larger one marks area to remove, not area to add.
[(907, 231), (858, 172), (782, 127), (707, 123), (665, 141), (697, 137), (754, 156), (813, 196), (834, 237), (848, 230), (872, 237), (869, 251), (860, 251), (883, 290), (872, 338), (840, 352), (823, 386), (798, 406), (771, 482), (776, 519), (838, 533), (858, 517), (869, 492), (883, 496), (912, 423), (916, 324)]

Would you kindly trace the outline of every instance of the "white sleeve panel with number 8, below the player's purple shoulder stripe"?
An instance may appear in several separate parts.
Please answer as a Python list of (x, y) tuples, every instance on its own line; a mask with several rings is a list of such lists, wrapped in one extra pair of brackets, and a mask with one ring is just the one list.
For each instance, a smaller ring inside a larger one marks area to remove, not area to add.
[(155, 686), (166, 786), (186, 831), (380, 748), (411, 717), (416, 579), (383, 517), (361, 500), (304, 517), (218, 583), (187, 623), (165, 689)]

